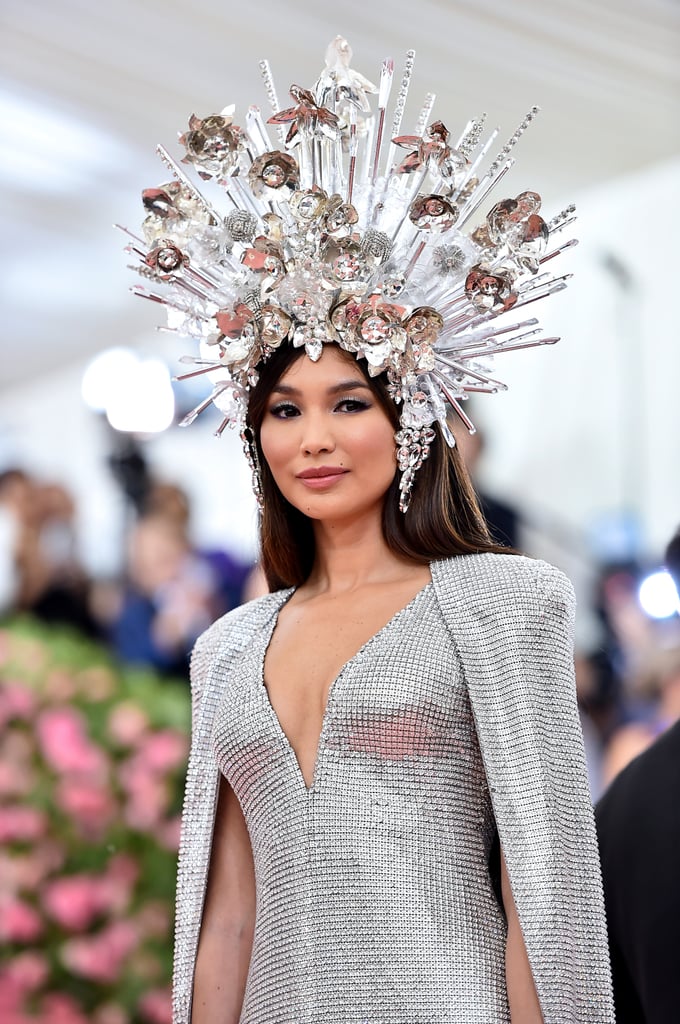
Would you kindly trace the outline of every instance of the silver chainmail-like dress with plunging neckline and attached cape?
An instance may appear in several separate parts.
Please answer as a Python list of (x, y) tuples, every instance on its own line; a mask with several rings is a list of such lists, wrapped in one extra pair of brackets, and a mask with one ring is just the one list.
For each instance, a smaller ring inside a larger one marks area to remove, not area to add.
[(242, 1024), (509, 1022), (497, 834), (545, 1024), (613, 1021), (568, 584), (517, 556), (431, 569), (335, 680), (309, 787), (263, 680), (292, 592), (199, 641), (175, 1024), (190, 1021), (219, 772), (256, 873)]

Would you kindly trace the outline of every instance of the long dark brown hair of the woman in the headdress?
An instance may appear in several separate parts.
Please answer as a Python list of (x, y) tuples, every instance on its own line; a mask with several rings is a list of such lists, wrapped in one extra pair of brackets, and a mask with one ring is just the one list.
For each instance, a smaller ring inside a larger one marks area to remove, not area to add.
[[(350, 353), (340, 351), (355, 361), (394, 429), (398, 429), (399, 414), (383, 376), (370, 377), (363, 359), (354, 360)], [(271, 590), (304, 583), (315, 555), (312, 520), (284, 498), (260, 446), (260, 428), (269, 395), (303, 353), (304, 349), (282, 345), (258, 368), (259, 380), (250, 392), (248, 404), (248, 424), (255, 437), (262, 480), (260, 553)], [(399, 511), (398, 471), (385, 495), (382, 529), (387, 546), (418, 565), (454, 555), (507, 553), (507, 548), (492, 540), (458, 447), (450, 447), (438, 427), (435, 430), (437, 437), (429, 458), (416, 474), (409, 511)]]

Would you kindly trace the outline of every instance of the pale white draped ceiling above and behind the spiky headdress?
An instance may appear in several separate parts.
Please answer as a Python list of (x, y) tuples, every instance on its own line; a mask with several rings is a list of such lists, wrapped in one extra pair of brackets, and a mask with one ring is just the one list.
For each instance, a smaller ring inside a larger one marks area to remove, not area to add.
[(487, 111), (510, 135), (538, 102), (513, 175), (549, 207), (680, 152), (677, 0), (2, 0), (2, 386), (150, 337), (111, 225), (167, 179), (156, 143), (265, 109), (262, 57), (282, 102), (310, 86), (338, 33), (374, 81), (415, 48), (412, 119), (434, 91), (452, 134)]

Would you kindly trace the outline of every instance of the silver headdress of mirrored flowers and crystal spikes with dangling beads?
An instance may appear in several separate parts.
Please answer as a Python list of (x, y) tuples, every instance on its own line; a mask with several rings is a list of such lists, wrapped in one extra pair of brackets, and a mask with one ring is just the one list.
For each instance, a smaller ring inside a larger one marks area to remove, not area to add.
[(291, 86), (293, 105), (284, 110), (262, 61), (273, 112), (266, 123), (257, 106), (243, 127), (233, 108), (193, 115), (179, 137), (181, 162), (204, 191), (159, 146), (172, 180), (143, 190), (142, 237), (124, 228), (134, 269), (162, 286), (133, 291), (162, 303), (168, 329), (198, 342), (199, 354), (184, 359), (194, 369), (177, 379), (205, 374), (212, 384), (182, 423), (214, 402), (223, 416), (217, 433), (235, 426), (252, 450), (248, 392), (259, 365), (284, 343), (316, 360), (334, 342), (371, 376), (385, 375), (399, 409), (403, 512), (434, 425), (454, 443), (448, 407), (473, 431), (461, 402), (505, 389), (488, 374), (490, 357), (558, 340), (541, 335), (536, 318), (507, 324), (504, 314), (565, 287), (568, 274), (543, 265), (573, 244), (551, 246), (573, 207), (548, 222), (534, 191), (497, 202), (479, 219), (538, 109), (488, 164), (498, 130), (484, 140), (485, 115), (454, 141), (441, 121), (430, 122), (432, 94), (413, 134), (401, 134), (414, 56), (406, 56), (389, 133), (391, 60), (376, 86), (350, 67), (351, 50), (337, 37), (313, 89)]

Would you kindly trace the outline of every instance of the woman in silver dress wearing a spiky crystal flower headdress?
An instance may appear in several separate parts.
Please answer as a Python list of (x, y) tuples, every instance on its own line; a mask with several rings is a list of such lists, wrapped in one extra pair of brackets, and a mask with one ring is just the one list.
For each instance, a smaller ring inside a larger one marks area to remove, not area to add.
[(447, 425), (490, 354), (556, 340), (495, 317), (563, 287), (571, 209), (473, 228), (535, 112), (477, 177), (481, 119), (398, 134), (412, 65), (384, 174), (393, 66), (376, 122), (336, 40), (288, 110), (263, 66), (290, 152), (252, 108), (189, 121), (225, 216), (165, 152), (143, 194), (139, 294), (242, 430), (272, 591), (194, 654), (176, 1024), (612, 1021), (571, 591), (491, 542)]

